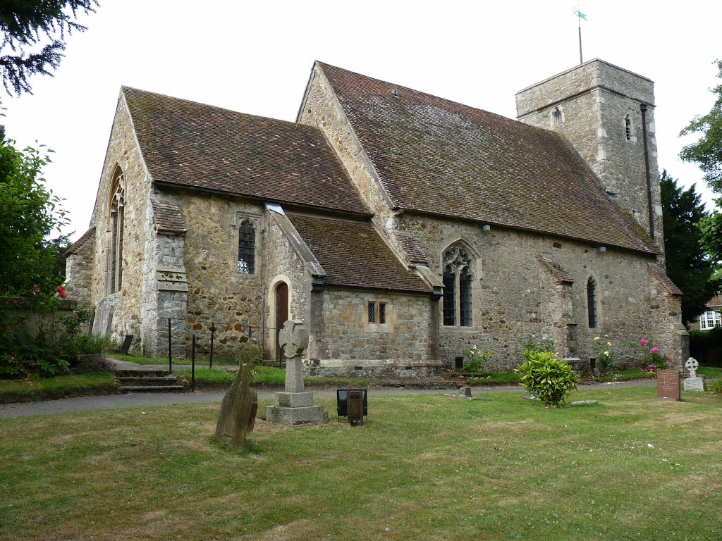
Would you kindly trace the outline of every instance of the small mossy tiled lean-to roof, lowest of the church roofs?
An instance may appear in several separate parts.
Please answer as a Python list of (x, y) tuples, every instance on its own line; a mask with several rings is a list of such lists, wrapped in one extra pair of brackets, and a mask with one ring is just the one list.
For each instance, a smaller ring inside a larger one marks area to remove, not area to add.
[(326, 271), (326, 284), (431, 291), (421, 278), (401, 265), (369, 222), (297, 214), (288, 214), (288, 218)]

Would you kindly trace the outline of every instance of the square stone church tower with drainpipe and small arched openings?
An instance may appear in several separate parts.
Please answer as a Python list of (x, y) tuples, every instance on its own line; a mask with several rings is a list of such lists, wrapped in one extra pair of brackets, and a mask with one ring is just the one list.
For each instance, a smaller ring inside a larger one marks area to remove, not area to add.
[(595, 58), (519, 91), (516, 114), (562, 133), (664, 253), (650, 79)]

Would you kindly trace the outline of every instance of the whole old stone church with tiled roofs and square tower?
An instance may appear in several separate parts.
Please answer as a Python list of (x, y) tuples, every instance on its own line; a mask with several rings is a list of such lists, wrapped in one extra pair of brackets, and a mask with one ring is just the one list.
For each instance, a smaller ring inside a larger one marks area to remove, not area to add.
[[(681, 359), (664, 271), (653, 83), (600, 60), (516, 95), (518, 120), (316, 62), (295, 122), (123, 87), (68, 292), (145, 355), (403, 377), (529, 338), (589, 366), (609, 335)], [(686, 358), (686, 357), (685, 357)]]

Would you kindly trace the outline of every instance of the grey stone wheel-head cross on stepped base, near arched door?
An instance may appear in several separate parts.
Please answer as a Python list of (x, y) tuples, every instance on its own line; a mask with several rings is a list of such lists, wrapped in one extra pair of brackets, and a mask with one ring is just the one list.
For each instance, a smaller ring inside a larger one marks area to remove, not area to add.
[(313, 392), (303, 390), (303, 351), (308, 348), (308, 330), (300, 321), (288, 320), (279, 333), (286, 356), (286, 387), (276, 393), (276, 404), (266, 406), (266, 421), (284, 425), (328, 421), (329, 412), (313, 405)]

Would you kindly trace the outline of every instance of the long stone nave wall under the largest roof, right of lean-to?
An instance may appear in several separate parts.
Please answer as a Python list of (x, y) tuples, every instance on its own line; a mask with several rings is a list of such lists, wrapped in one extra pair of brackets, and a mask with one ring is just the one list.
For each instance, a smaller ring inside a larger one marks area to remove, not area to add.
[[(653, 311), (656, 301), (648, 276), (653, 256), (611, 247), (599, 252), (583, 242), (498, 227), (484, 232), (480, 224), (412, 213), (404, 214), (400, 227), (414, 234), (434, 272), (441, 273), (443, 252), (458, 239), (478, 254), (474, 325), (440, 325), (440, 359), (446, 366), (476, 345), (497, 352), (490, 369), (509, 369), (521, 360), (521, 344), (529, 338), (552, 338), (561, 356), (588, 362), (596, 356), (593, 338), (604, 334), (619, 346), (619, 358), (636, 364), (640, 352), (624, 344), (635, 343), (651, 330), (659, 335), (676, 332), (673, 316)], [(554, 284), (540, 254), (550, 254), (574, 283)], [(588, 327), (590, 277), (597, 284), (599, 323), (594, 329)]]

